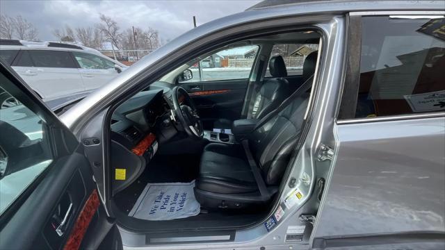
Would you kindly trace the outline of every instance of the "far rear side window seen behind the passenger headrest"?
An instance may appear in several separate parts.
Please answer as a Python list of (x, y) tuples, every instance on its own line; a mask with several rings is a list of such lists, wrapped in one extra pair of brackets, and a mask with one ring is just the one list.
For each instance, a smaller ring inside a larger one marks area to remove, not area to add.
[[(318, 44), (275, 44), (272, 47), (270, 58), (282, 56), (286, 65), (287, 75), (300, 76), (302, 75), (306, 56), (316, 50), (318, 50)], [(269, 65), (265, 76), (272, 76), (269, 71)]]

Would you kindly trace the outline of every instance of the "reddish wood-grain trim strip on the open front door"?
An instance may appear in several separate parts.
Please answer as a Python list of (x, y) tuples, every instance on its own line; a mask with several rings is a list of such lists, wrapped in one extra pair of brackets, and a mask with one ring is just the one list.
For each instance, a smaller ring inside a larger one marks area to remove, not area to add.
[(88, 226), (90, 226), (92, 217), (95, 215), (97, 208), (99, 208), (99, 205), (99, 195), (97, 194), (97, 190), (94, 190), (90, 194), (90, 197), (88, 197), (88, 200), (83, 206), (79, 217), (77, 217), (70, 237), (68, 238), (67, 243), (63, 248), (64, 250), (79, 249), (83, 240), (83, 236), (85, 236), (86, 230), (88, 229)]

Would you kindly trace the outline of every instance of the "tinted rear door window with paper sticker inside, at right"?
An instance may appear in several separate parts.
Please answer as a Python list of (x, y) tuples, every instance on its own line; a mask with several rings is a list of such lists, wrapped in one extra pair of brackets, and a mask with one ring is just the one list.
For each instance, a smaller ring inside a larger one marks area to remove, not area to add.
[(355, 117), (445, 110), (445, 22), (362, 18)]

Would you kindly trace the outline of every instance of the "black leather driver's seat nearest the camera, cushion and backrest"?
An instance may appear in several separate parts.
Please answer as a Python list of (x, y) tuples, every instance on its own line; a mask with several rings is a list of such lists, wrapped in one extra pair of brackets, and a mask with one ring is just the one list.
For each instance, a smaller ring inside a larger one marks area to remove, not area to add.
[[(296, 144), (309, 94), (289, 103), (273, 119), (248, 135), (248, 147), (268, 193), (278, 190)], [(240, 144), (211, 143), (204, 148), (200, 175), (195, 183), (195, 197), (205, 208), (245, 208), (265, 203), (254, 178), (245, 151)]]

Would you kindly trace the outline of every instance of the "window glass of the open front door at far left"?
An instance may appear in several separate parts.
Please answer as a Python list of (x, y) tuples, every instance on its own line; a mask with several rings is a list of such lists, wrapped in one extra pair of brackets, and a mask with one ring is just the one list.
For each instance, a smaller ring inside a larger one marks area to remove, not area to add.
[[(0, 81), (8, 81), (0, 76)], [(0, 82), (0, 83), (1, 83)], [(0, 87), (0, 215), (51, 163), (46, 124)], [(4, 105), (15, 102), (18, 105)]]

